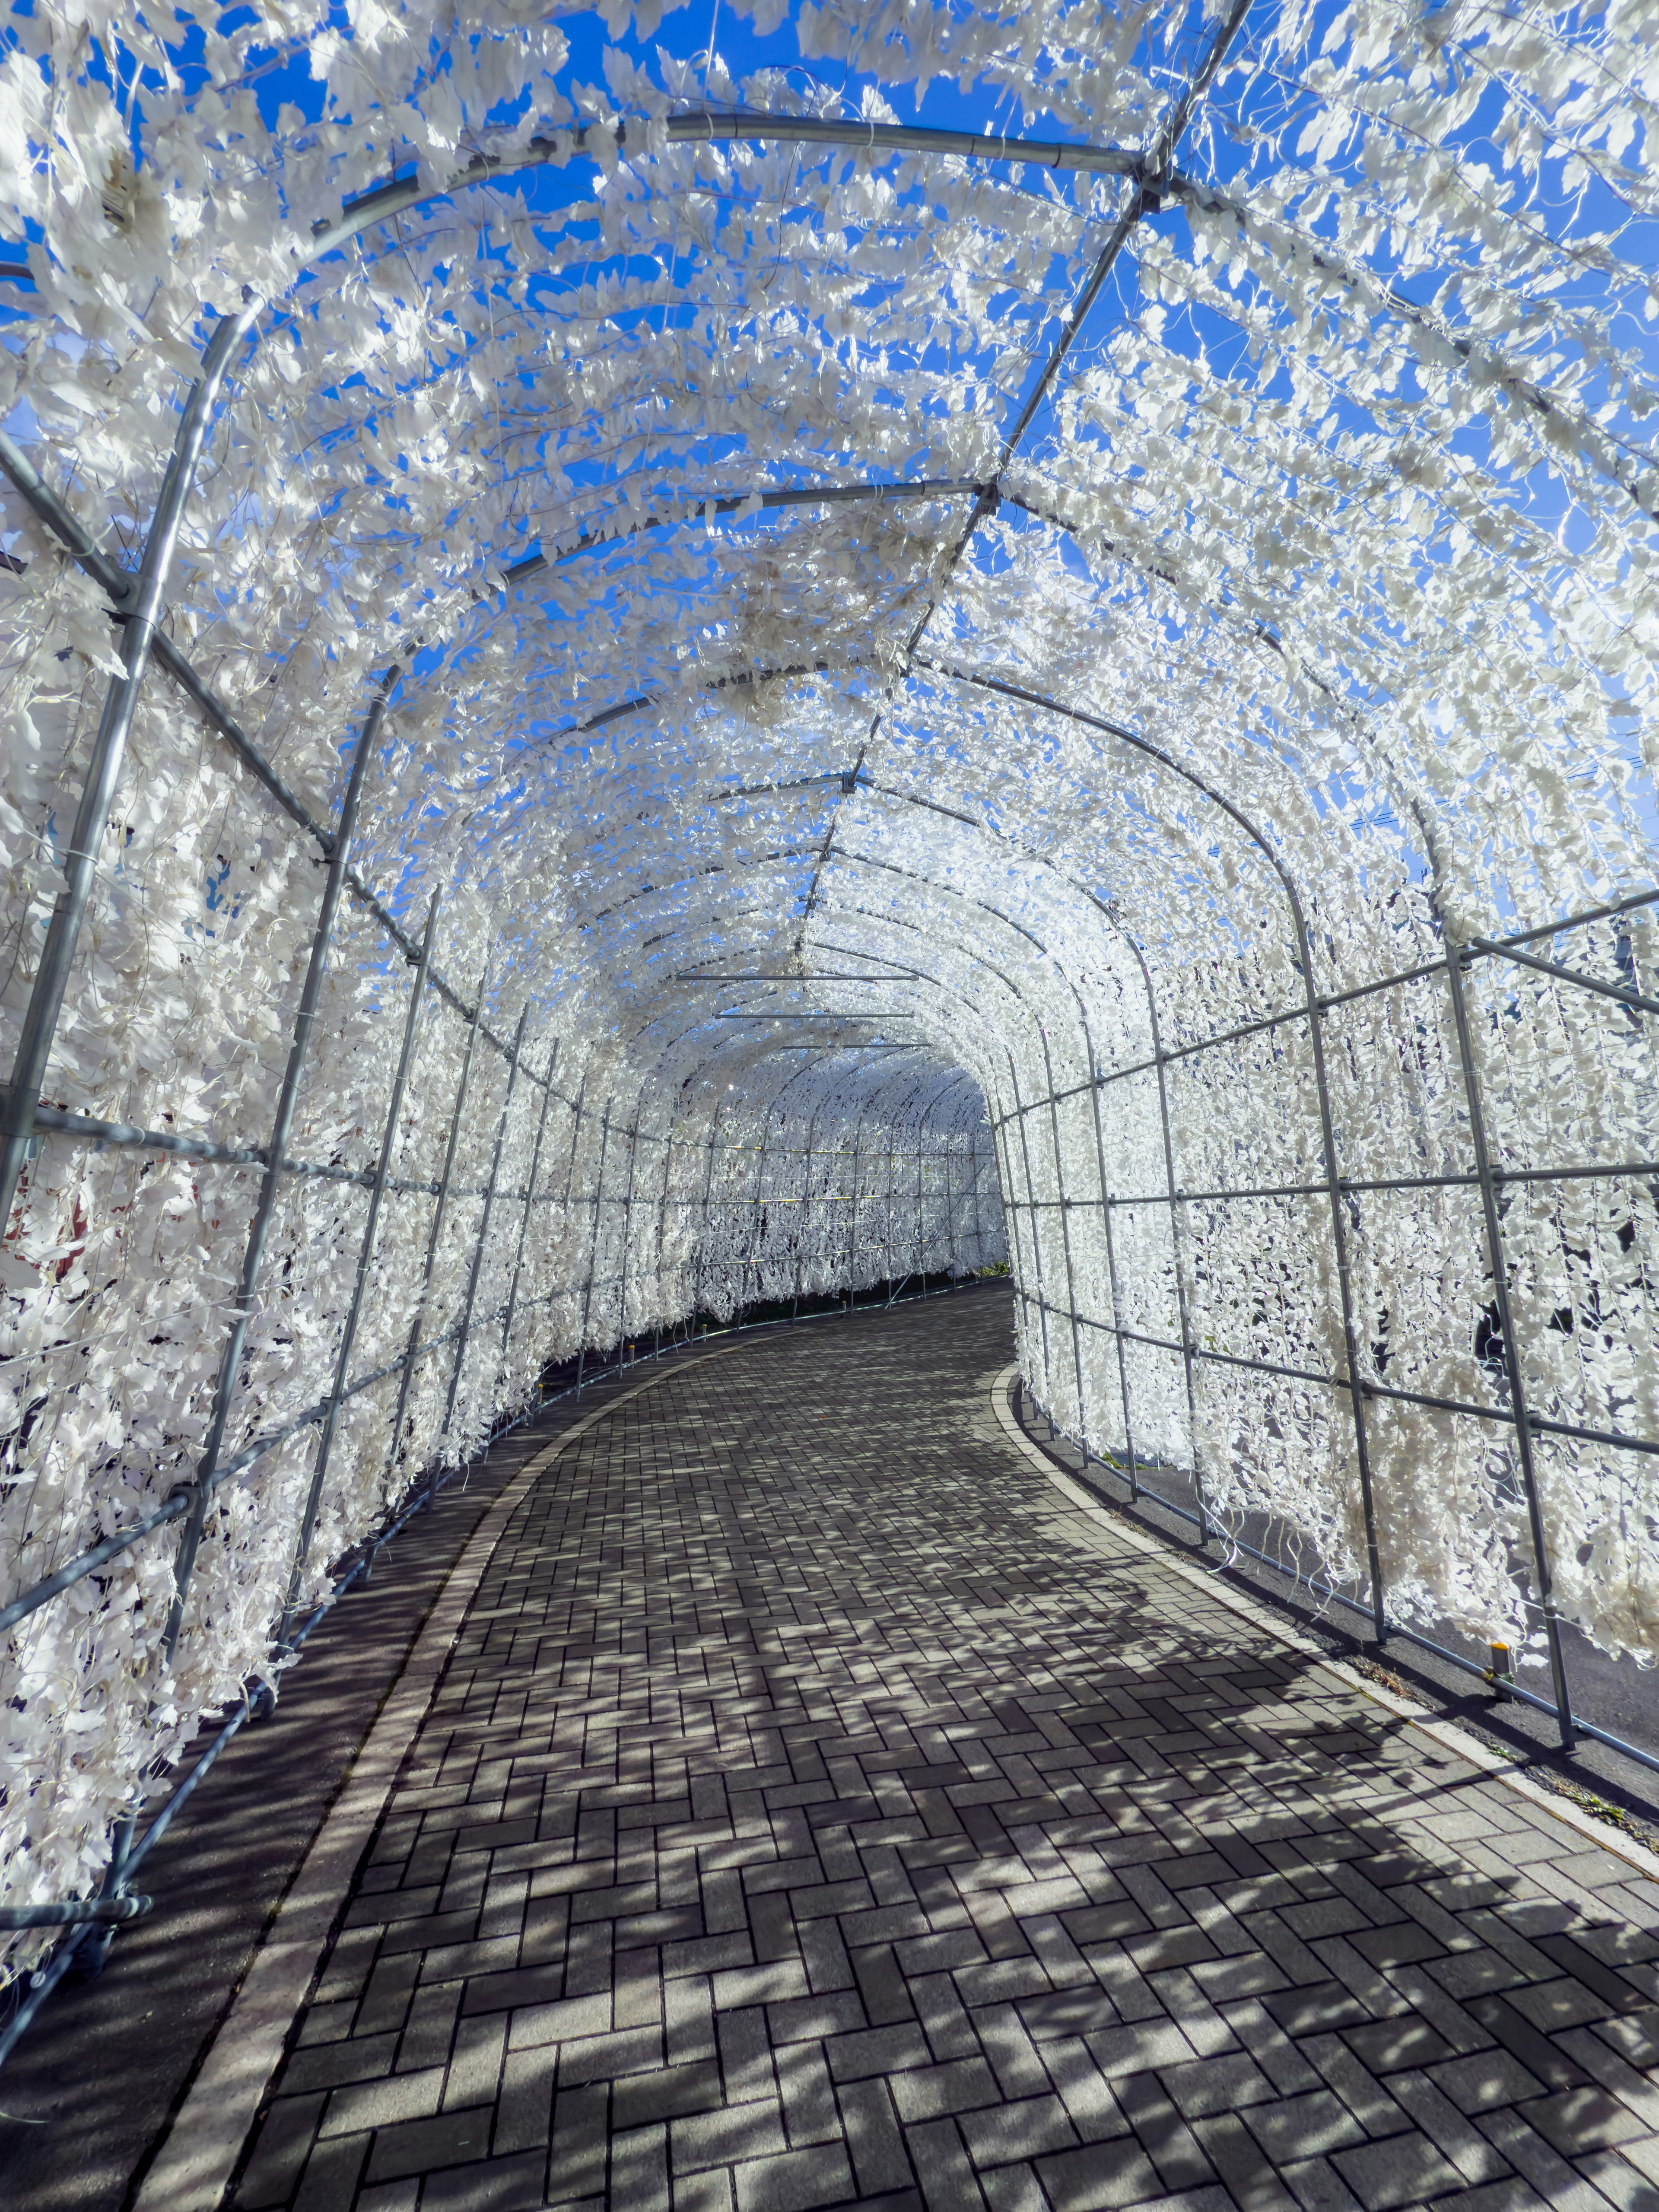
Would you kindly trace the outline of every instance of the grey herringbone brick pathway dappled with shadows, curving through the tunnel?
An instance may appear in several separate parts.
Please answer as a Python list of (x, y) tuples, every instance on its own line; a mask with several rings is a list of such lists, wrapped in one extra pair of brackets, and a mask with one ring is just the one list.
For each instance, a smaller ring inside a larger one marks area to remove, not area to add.
[(1659, 1887), (1086, 1548), (1006, 1332), (759, 1338), (571, 1447), (243, 2212), (1659, 2212)]

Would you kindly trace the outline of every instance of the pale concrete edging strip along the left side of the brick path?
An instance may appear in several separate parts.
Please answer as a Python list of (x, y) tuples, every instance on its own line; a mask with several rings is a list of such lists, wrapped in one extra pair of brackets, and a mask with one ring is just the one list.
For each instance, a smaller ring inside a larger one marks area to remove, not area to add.
[(584, 1413), (524, 1462), (467, 1537), (208, 2044), (184, 2104), (133, 2199), (133, 2212), (217, 2212), (248, 2130), (283, 2059), (294, 2015), (327, 1951), (358, 1860), (385, 1812), (403, 1756), (431, 1710), (478, 1584), (484, 1579), (495, 1546), (524, 1495), (560, 1453), (568, 1451), (577, 1438), (615, 1413), (617, 1407), (628, 1405), (630, 1398), (639, 1398), (690, 1367), (745, 1349), (748, 1345), (721, 1345), (697, 1360), (664, 1367), (659, 1374), (646, 1376), (644, 1383), (635, 1383), (633, 1389), (619, 1391), (608, 1405)]

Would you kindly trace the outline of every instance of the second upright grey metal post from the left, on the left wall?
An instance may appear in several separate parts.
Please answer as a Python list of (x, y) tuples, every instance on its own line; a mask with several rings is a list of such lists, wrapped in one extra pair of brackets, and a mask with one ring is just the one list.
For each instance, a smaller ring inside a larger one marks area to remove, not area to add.
[[(221, 325), (223, 327), (223, 325)], [(241, 1281), (237, 1283), (237, 1303), (232, 1307), (232, 1323), (226, 1336), (226, 1349), (219, 1360), (219, 1380), (212, 1394), (212, 1416), (208, 1420), (208, 1442), (197, 1464), (197, 1478), (190, 1486), (190, 1511), (184, 1522), (184, 1535), (179, 1540), (179, 1557), (173, 1568), (173, 1604), (168, 1608), (166, 1632), (161, 1637), (161, 1663), (173, 1666), (173, 1652), (179, 1644), (179, 1628), (184, 1626), (184, 1601), (190, 1593), (190, 1575), (197, 1564), (197, 1551), (201, 1548), (201, 1528), (208, 1517), (208, 1502), (212, 1500), (215, 1478), (219, 1473), (219, 1453), (226, 1442), (226, 1427), (230, 1425), (230, 1402), (237, 1394), (237, 1378), (241, 1374), (241, 1354), (248, 1343), (248, 1323), (252, 1321), (254, 1294), (259, 1292), (259, 1276), (265, 1265), (265, 1239), (270, 1237), (270, 1223), (276, 1212), (276, 1192), (283, 1179), (283, 1155), (288, 1152), (288, 1139), (294, 1128), (294, 1110), (299, 1106), (299, 1086), (305, 1075), (305, 1055), (312, 1046), (312, 1026), (316, 1022), (316, 1002), (323, 995), (323, 971), (327, 969), (330, 947), (334, 942), (334, 916), (341, 909), (341, 894), (345, 889), (345, 869), (352, 860), (352, 836), (356, 832), (356, 810), (363, 796), (363, 774), (369, 765), (369, 754), (380, 734), (380, 723), (385, 721), (387, 699), (398, 681), (398, 666), (394, 664), (380, 677), (380, 686), (374, 695), (374, 706), (363, 717), (363, 730), (356, 741), (356, 752), (352, 754), (352, 770), (345, 779), (345, 799), (341, 801), (341, 823), (334, 832), (334, 847), (327, 860), (327, 876), (323, 878), (323, 902), (316, 914), (316, 929), (312, 931), (312, 958), (305, 967), (305, 982), (299, 993), (299, 1011), (294, 1013), (294, 1040), (288, 1046), (288, 1066), (283, 1071), (283, 1088), (276, 1095), (276, 1115), (270, 1130), (270, 1150), (265, 1155), (265, 1175), (259, 1186), (259, 1203), (254, 1206), (254, 1219), (248, 1228), (248, 1243), (241, 1256)]]

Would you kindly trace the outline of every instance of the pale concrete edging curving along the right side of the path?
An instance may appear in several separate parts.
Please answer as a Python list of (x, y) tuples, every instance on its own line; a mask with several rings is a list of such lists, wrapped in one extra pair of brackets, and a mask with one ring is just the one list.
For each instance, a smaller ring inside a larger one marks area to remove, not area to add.
[(995, 1416), (998, 1427), (1015, 1451), (1031, 1460), (1033, 1467), (1040, 1467), (1048, 1482), (1053, 1482), (1053, 1486), (1068, 1498), (1082, 1515), (1093, 1520), (1097, 1526), (1108, 1528), (1115, 1544), (1126, 1544), (1130, 1551), (1157, 1557), (1168, 1573), (1194, 1584), (1219, 1606), (1225, 1606), (1230, 1613), (1250, 1621), (1252, 1628), (1263, 1628), (1267, 1635), (1276, 1637), (1279, 1644), (1287, 1644), (1292, 1650), (1312, 1659), (1327, 1679), (1340, 1683), (1345, 1690), (1358, 1690), (1360, 1697), (1369, 1697), (1374, 1705), (1383, 1705), (1398, 1721), (1405, 1721), (1409, 1728), (1416, 1728), (1418, 1734), (1438, 1743), (1440, 1750), (1453, 1752), (1458, 1759), (1467, 1759), (1471, 1767), (1493, 1776), (1506, 1790), (1513, 1790), (1515, 1796), (1526, 1798), (1535, 1812), (1551, 1814), (1586, 1843), (1593, 1843), (1599, 1851), (1621, 1858), (1637, 1874), (1646, 1876), (1646, 1880), (1659, 1882), (1659, 1854), (1650, 1851), (1632, 1836), (1621, 1836), (1619, 1829), (1610, 1827), (1606, 1820), (1595, 1820), (1571, 1798), (1555, 1796), (1553, 1790), (1540, 1790), (1537, 1783), (1528, 1781), (1524, 1774), (1515, 1774), (1506, 1759), (1500, 1759), (1498, 1752), (1484, 1745), (1478, 1736), (1458, 1728), (1455, 1721), (1442, 1721), (1427, 1705), (1418, 1705), (1409, 1697), (1396, 1697), (1394, 1690), (1385, 1690), (1380, 1681), (1371, 1681), (1369, 1674), (1360, 1674), (1360, 1670), (1347, 1666), (1347, 1661), (1332, 1659), (1332, 1655), (1314, 1644), (1312, 1637), (1301, 1635), (1301, 1630), (1296, 1630), (1290, 1621), (1279, 1619), (1270, 1606), (1259, 1604), (1245, 1590), (1223, 1582), (1219, 1568), (1194, 1566), (1168, 1544), (1148, 1535), (1115, 1506), (1104, 1506), (1099, 1498), (1075, 1482), (1064, 1467), (1055, 1467), (1048, 1453), (1042, 1451), (1040, 1444), (1033, 1444), (1013, 1418), (1011, 1396), (1018, 1380), (1018, 1360), (1002, 1367), (991, 1380), (991, 1413)]

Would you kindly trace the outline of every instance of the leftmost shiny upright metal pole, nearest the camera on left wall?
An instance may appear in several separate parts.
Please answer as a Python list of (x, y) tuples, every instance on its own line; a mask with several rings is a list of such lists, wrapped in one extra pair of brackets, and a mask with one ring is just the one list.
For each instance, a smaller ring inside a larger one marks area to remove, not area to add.
[[(184, 403), (184, 414), (179, 416), (179, 427), (173, 438), (173, 456), (155, 502), (155, 518), (150, 520), (148, 538), (144, 540), (139, 571), (126, 580), (126, 588), (122, 593), (126, 615), (122, 630), (122, 672), (111, 677), (108, 690), (104, 692), (104, 712), (97, 721), (93, 757), (86, 765), (86, 783), (82, 785), (80, 805), (75, 807), (75, 825), (69, 832), (69, 849), (64, 852), (64, 889), (58, 894), (51, 920), (46, 922), (40, 967), (35, 969), (35, 980), (29, 989), (29, 1006), (24, 1009), (22, 1029), (18, 1033), (18, 1055), (11, 1064), (11, 1082), (4, 1091), (0, 1091), (0, 1241), (11, 1228), (11, 1206), (18, 1194), (18, 1177), (22, 1175), (22, 1166), (35, 1141), (35, 1106), (40, 1104), (40, 1091), (46, 1079), (46, 1062), (51, 1060), (58, 1020), (64, 1009), (64, 991), (69, 989), (69, 971), (75, 962), (80, 927), (86, 918), (93, 885), (97, 883), (97, 849), (104, 843), (108, 810), (115, 801), (115, 785), (122, 779), (126, 739), (133, 730), (133, 714), (137, 712), (139, 692), (144, 688), (144, 672), (150, 664), (150, 646), (161, 619), (161, 597), (168, 586), (168, 575), (173, 573), (173, 553), (179, 542), (179, 526), (184, 522), (190, 493), (195, 491), (201, 445), (208, 436), (208, 418), (230, 361), (252, 330), (259, 305), (259, 301), (250, 301), (237, 314), (223, 316), (208, 341), (208, 352), (201, 358), (201, 376), (190, 385), (190, 396)], [(349, 836), (349, 830), (343, 830), (341, 834)], [(195, 1544), (190, 1544), (190, 1559), (195, 1559)], [(173, 1657), (175, 1637), (177, 1621), (170, 1621), (164, 1641), (168, 1659)]]

